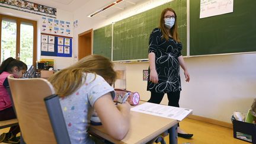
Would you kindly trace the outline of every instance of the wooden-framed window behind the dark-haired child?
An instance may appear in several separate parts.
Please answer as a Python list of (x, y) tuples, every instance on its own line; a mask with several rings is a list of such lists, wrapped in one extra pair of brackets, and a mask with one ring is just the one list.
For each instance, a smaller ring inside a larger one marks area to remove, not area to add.
[(36, 64), (37, 22), (0, 14), (0, 63), (8, 57)]

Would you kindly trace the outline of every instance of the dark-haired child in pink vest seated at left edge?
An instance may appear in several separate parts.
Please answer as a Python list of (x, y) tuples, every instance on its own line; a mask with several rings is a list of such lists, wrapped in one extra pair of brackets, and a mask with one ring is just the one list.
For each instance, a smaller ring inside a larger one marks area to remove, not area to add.
[[(14, 78), (21, 78), (26, 71), (27, 65), (20, 60), (9, 57), (2, 62), (2, 65), (0, 66), (0, 121), (16, 118), (11, 98), (7, 91), (7, 88), (9, 87), (7, 77), (12, 75)], [(2, 135), (0, 135), (0, 143), (19, 143), (20, 140), (16, 137), (19, 132), (19, 126), (12, 126), (8, 133), (2, 133)]]

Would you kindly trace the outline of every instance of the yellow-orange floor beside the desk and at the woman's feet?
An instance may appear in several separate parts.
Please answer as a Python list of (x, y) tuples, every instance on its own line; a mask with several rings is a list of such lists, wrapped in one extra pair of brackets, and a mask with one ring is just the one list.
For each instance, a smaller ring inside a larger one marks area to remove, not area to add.
[[(178, 144), (248, 144), (233, 138), (233, 130), (226, 127), (188, 118), (181, 121), (180, 127), (194, 136), (192, 139), (178, 137)], [(3, 132), (8, 132), (8, 129), (0, 129), (0, 133)], [(165, 137), (165, 142), (169, 143), (168, 136)]]

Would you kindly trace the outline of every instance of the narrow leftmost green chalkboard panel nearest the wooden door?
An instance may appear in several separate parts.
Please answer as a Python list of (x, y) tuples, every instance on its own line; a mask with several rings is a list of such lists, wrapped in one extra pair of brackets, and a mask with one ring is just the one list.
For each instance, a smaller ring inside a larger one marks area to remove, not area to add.
[(93, 31), (93, 54), (111, 59), (112, 24)]

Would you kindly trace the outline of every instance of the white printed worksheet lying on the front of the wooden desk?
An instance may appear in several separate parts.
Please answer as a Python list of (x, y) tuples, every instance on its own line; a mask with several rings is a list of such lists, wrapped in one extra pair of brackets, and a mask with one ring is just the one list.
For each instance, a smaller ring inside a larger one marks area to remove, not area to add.
[(131, 108), (131, 110), (139, 113), (152, 114), (154, 116), (166, 117), (169, 119), (174, 119), (179, 121), (183, 120), (193, 111), (188, 108), (171, 107), (168, 105), (153, 104), (153, 103), (139, 104), (136, 107)]

